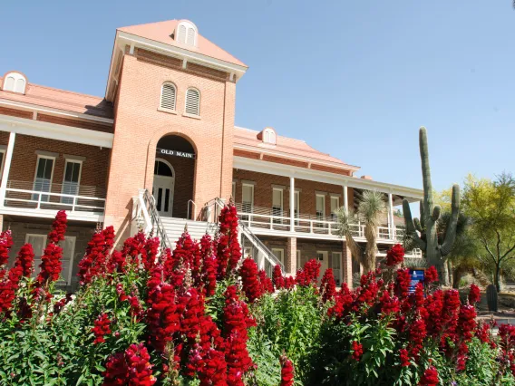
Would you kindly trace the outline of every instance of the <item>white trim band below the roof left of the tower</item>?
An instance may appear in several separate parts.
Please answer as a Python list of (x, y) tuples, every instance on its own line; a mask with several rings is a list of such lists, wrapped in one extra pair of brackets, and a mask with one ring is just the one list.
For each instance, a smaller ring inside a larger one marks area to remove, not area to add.
[(0, 131), (15, 132), (50, 140), (64, 140), (109, 149), (112, 148), (112, 141), (114, 139), (114, 134), (108, 132), (7, 116), (0, 116)]

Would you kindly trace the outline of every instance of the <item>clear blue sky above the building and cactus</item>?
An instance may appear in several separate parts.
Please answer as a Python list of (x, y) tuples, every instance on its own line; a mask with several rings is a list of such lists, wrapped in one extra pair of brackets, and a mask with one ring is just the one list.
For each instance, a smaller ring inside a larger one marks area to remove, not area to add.
[(415, 188), (421, 125), (434, 188), (515, 171), (511, 0), (10, 1), (0, 72), (102, 96), (115, 29), (176, 18), (249, 65), (238, 126)]

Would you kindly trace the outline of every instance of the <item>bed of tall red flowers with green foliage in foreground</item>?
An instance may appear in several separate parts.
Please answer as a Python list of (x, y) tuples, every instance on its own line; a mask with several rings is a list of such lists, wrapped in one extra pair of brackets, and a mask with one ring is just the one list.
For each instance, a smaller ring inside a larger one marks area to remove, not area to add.
[(59, 212), (31, 278), (25, 245), (0, 235), (0, 383), (34, 385), (491, 385), (515, 384), (515, 327), (476, 322), (466, 299), (436, 285), (435, 270), (409, 293), (403, 248), (353, 290), (332, 270), (316, 284), (310, 260), (270, 279), (242, 259), (236, 208), (215, 239), (185, 232), (173, 251), (138, 233), (113, 250), (97, 231), (79, 263), (76, 294), (55, 289), (62, 268)]

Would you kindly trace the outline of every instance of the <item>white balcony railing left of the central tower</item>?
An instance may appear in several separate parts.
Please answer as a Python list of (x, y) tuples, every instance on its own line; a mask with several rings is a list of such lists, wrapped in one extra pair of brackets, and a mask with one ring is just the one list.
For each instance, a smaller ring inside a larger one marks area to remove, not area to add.
[[(70, 194), (71, 192), (75, 194)], [(40, 187), (35, 188), (32, 181), (9, 180), (5, 188), (4, 206), (20, 210), (63, 209), (84, 215), (102, 215), (105, 208), (105, 189), (63, 184), (40, 184)]]

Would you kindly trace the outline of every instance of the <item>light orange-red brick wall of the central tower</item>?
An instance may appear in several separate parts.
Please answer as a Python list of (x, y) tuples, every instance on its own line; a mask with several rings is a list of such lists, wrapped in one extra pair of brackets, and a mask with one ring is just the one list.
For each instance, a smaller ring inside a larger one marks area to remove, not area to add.
[[(127, 54), (121, 66), (106, 207), (106, 224), (118, 228), (129, 226), (131, 197), (138, 188), (151, 189), (156, 144), (165, 135), (182, 136), (195, 148), (197, 210), (231, 193), (236, 84), (185, 72), (160, 59)], [(177, 87), (177, 114), (158, 111), (163, 82)], [(182, 115), (189, 87), (200, 92), (199, 120)]]

